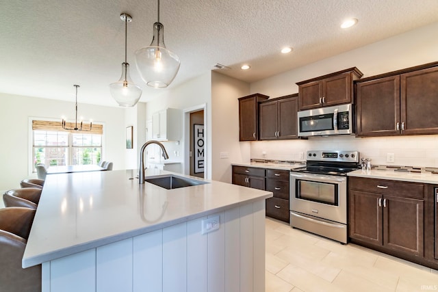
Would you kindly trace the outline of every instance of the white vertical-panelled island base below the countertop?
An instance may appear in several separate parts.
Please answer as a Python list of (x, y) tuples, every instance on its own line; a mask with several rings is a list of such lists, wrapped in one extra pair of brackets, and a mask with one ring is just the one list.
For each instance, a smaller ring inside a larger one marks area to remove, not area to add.
[(265, 200), (44, 262), (42, 291), (265, 291)]

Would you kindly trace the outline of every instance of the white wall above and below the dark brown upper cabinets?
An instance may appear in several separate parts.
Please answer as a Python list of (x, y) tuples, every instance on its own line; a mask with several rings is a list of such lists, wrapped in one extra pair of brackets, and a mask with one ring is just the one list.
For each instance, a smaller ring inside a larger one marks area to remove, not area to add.
[[(363, 77), (438, 61), (438, 23), (348, 51), (322, 61), (250, 84), (250, 92), (271, 98), (298, 92), (298, 81), (356, 66)], [(437, 101), (438, 102), (438, 101)], [(299, 160), (307, 150), (359, 150), (374, 164), (438, 167), (438, 135), (409, 137), (315, 137), (309, 140), (251, 143), (251, 158)], [(386, 162), (395, 154), (394, 163)]]

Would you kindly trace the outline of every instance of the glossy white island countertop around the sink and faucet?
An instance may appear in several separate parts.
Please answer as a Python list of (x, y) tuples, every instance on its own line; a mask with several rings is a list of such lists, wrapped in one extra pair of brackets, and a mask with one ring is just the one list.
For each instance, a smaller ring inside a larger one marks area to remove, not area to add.
[[(136, 174), (114, 170), (47, 176), (23, 267), (272, 197), (270, 191), (218, 181), (179, 189), (140, 185)], [(171, 173), (146, 170), (146, 176), (165, 174)]]

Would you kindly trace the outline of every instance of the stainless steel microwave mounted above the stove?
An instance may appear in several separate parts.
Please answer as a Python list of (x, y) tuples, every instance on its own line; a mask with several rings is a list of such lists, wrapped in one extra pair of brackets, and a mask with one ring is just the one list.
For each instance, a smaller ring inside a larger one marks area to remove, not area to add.
[(354, 133), (352, 104), (298, 111), (298, 136), (350, 135)]

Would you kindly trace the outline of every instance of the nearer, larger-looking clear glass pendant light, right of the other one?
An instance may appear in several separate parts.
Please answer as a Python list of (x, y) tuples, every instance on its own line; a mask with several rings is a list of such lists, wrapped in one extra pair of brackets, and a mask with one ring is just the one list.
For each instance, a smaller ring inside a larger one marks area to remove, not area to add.
[(136, 65), (146, 85), (153, 88), (166, 88), (172, 83), (179, 70), (179, 57), (166, 49), (164, 44), (164, 25), (158, 20), (153, 24), (153, 38), (149, 47), (136, 51)]

